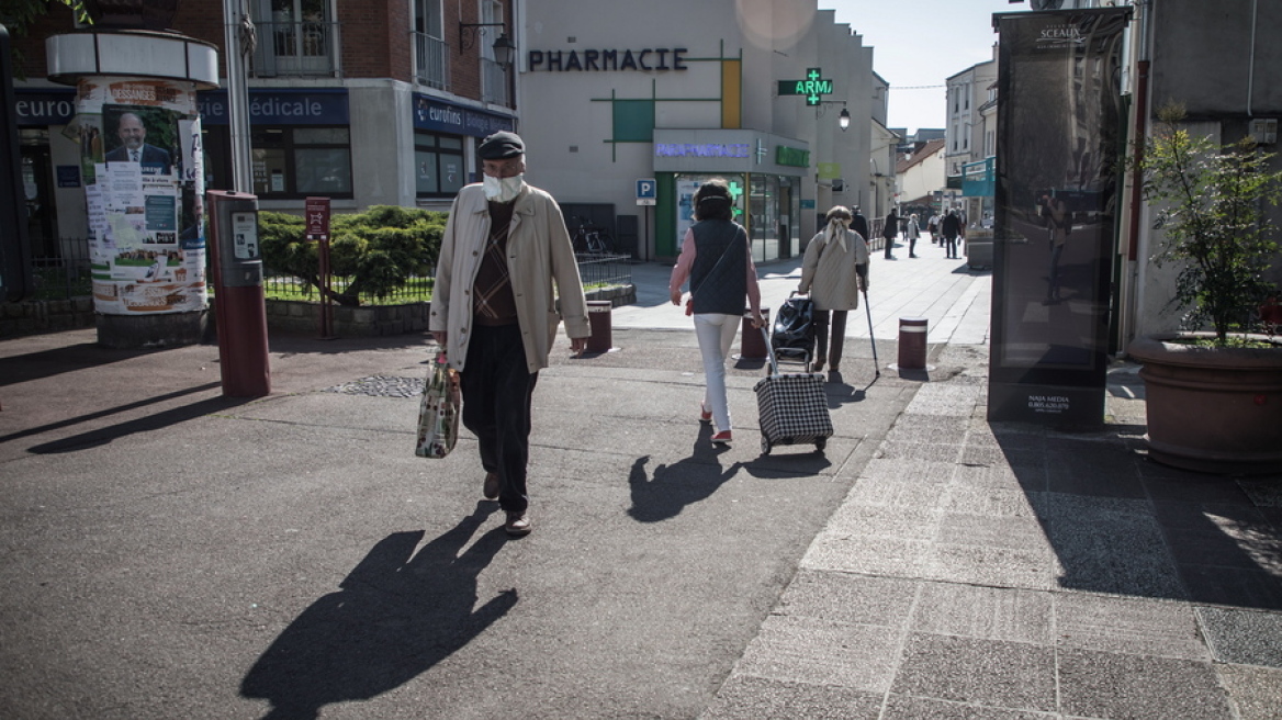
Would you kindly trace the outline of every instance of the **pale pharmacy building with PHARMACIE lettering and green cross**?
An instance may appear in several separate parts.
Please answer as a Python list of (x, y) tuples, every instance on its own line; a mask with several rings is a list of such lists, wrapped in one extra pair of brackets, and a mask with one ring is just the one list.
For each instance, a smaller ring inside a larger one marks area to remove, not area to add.
[(872, 50), (831, 10), (814, 0), (600, 8), (527, 0), (519, 32), (528, 174), (572, 229), (606, 227), (619, 250), (673, 258), (694, 190), (722, 177), (765, 261), (797, 252), (832, 204), (860, 202)]

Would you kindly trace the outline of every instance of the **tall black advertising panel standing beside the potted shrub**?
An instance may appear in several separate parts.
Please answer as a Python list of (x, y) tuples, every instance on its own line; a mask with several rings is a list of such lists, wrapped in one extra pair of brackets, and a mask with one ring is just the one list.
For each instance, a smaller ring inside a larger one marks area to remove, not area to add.
[(1099, 424), (1129, 9), (996, 18), (988, 416)]

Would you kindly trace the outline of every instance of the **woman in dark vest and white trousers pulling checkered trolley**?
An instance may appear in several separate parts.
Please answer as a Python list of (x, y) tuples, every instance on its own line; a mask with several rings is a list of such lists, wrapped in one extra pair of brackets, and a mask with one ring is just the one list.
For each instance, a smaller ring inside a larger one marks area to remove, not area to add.
[(756, 265), (747, 231), (735, 222), (729, 184), (713, 178), (699, 186), (692, 199), (695, 223), (681, 242), (681, 255), (668, 281), (673, 305), (681, 305), (682, 286), (690, 281), (686, 314), (695, 323), (706, 387), (699, 419), (713, 424), (714, 445), (731, 442), (729, 402), (726, 396), (726, 357), (744, 316), (751, 311), (753, 328), (765, 324)]

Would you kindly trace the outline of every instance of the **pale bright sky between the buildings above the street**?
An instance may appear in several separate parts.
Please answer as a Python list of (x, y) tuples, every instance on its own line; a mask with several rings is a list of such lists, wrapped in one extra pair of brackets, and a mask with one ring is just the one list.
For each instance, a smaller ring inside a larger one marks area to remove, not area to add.
[[(891, 85), (892, 128), (942, 128), (945, 78), (992, 59), (994, 13), (1028, 9), (1008, 0), (819, 0), (873, 47), (873, 70)], [(900, 90), (903, 88), (903, 90)]]

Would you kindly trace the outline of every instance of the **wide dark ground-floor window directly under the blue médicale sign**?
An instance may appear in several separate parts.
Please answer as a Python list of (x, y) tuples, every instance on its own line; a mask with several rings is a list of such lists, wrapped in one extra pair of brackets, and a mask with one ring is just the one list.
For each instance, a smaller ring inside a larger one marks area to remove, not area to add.
[(254, 193), (259, 197), (351, 197), (346, 127), (255, 127), (250, 137)]

